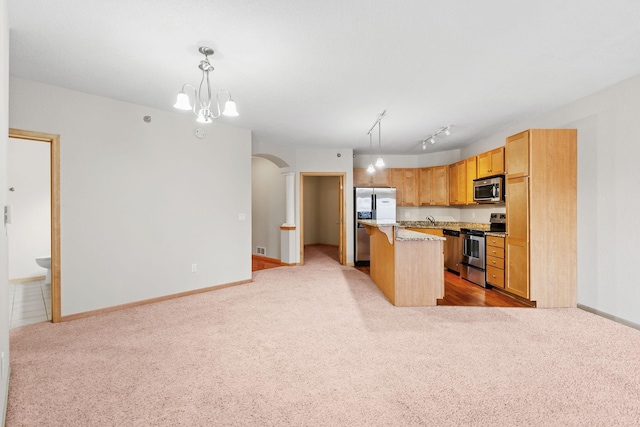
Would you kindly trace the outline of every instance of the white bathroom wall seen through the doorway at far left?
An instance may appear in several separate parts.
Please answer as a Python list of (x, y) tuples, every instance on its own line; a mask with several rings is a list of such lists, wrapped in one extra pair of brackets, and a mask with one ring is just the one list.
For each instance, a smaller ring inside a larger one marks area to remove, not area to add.
[(50, 144), (9, 138), (9, 280), (44, 276), (37, 257), (51, 256)]

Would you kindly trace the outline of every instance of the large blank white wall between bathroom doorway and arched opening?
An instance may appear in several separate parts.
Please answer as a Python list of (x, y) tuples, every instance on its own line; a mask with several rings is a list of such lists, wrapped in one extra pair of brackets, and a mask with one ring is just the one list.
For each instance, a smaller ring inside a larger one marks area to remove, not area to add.
[(63, 316), (251, 279), (249, 130), (198, 139), (178, 112), (18, 78), (10, 91), (11, 127), (60, 135)]

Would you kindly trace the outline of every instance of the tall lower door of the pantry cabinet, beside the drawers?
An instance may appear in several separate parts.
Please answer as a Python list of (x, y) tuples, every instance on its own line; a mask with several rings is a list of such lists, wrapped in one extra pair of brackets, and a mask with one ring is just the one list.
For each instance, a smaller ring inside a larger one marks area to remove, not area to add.
[(505, 290), (529, 299), (529, 178), (507, 180)]

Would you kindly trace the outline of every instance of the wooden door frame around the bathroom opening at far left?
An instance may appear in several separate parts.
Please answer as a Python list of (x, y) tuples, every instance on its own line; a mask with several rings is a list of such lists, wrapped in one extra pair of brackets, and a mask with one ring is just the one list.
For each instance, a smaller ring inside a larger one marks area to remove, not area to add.
[(60, 298), (60, 135), (9, 128), (9, 138), (49, 144), (51, 163), (51, 321), (61, 321)]

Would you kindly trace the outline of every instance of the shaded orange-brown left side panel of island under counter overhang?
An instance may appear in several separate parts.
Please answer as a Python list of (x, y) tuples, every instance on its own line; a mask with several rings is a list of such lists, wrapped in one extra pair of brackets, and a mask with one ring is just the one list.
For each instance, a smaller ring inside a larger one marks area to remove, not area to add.
[[(378, 227), (371, 227), (370, 266), (371, 280), (380, 288), (382, 293), (395, 305), (394, 270), (395, 260), (393, 245), (389, 243), (387, 235)], [(397, 242), (394, 242), (397, 243)]]

